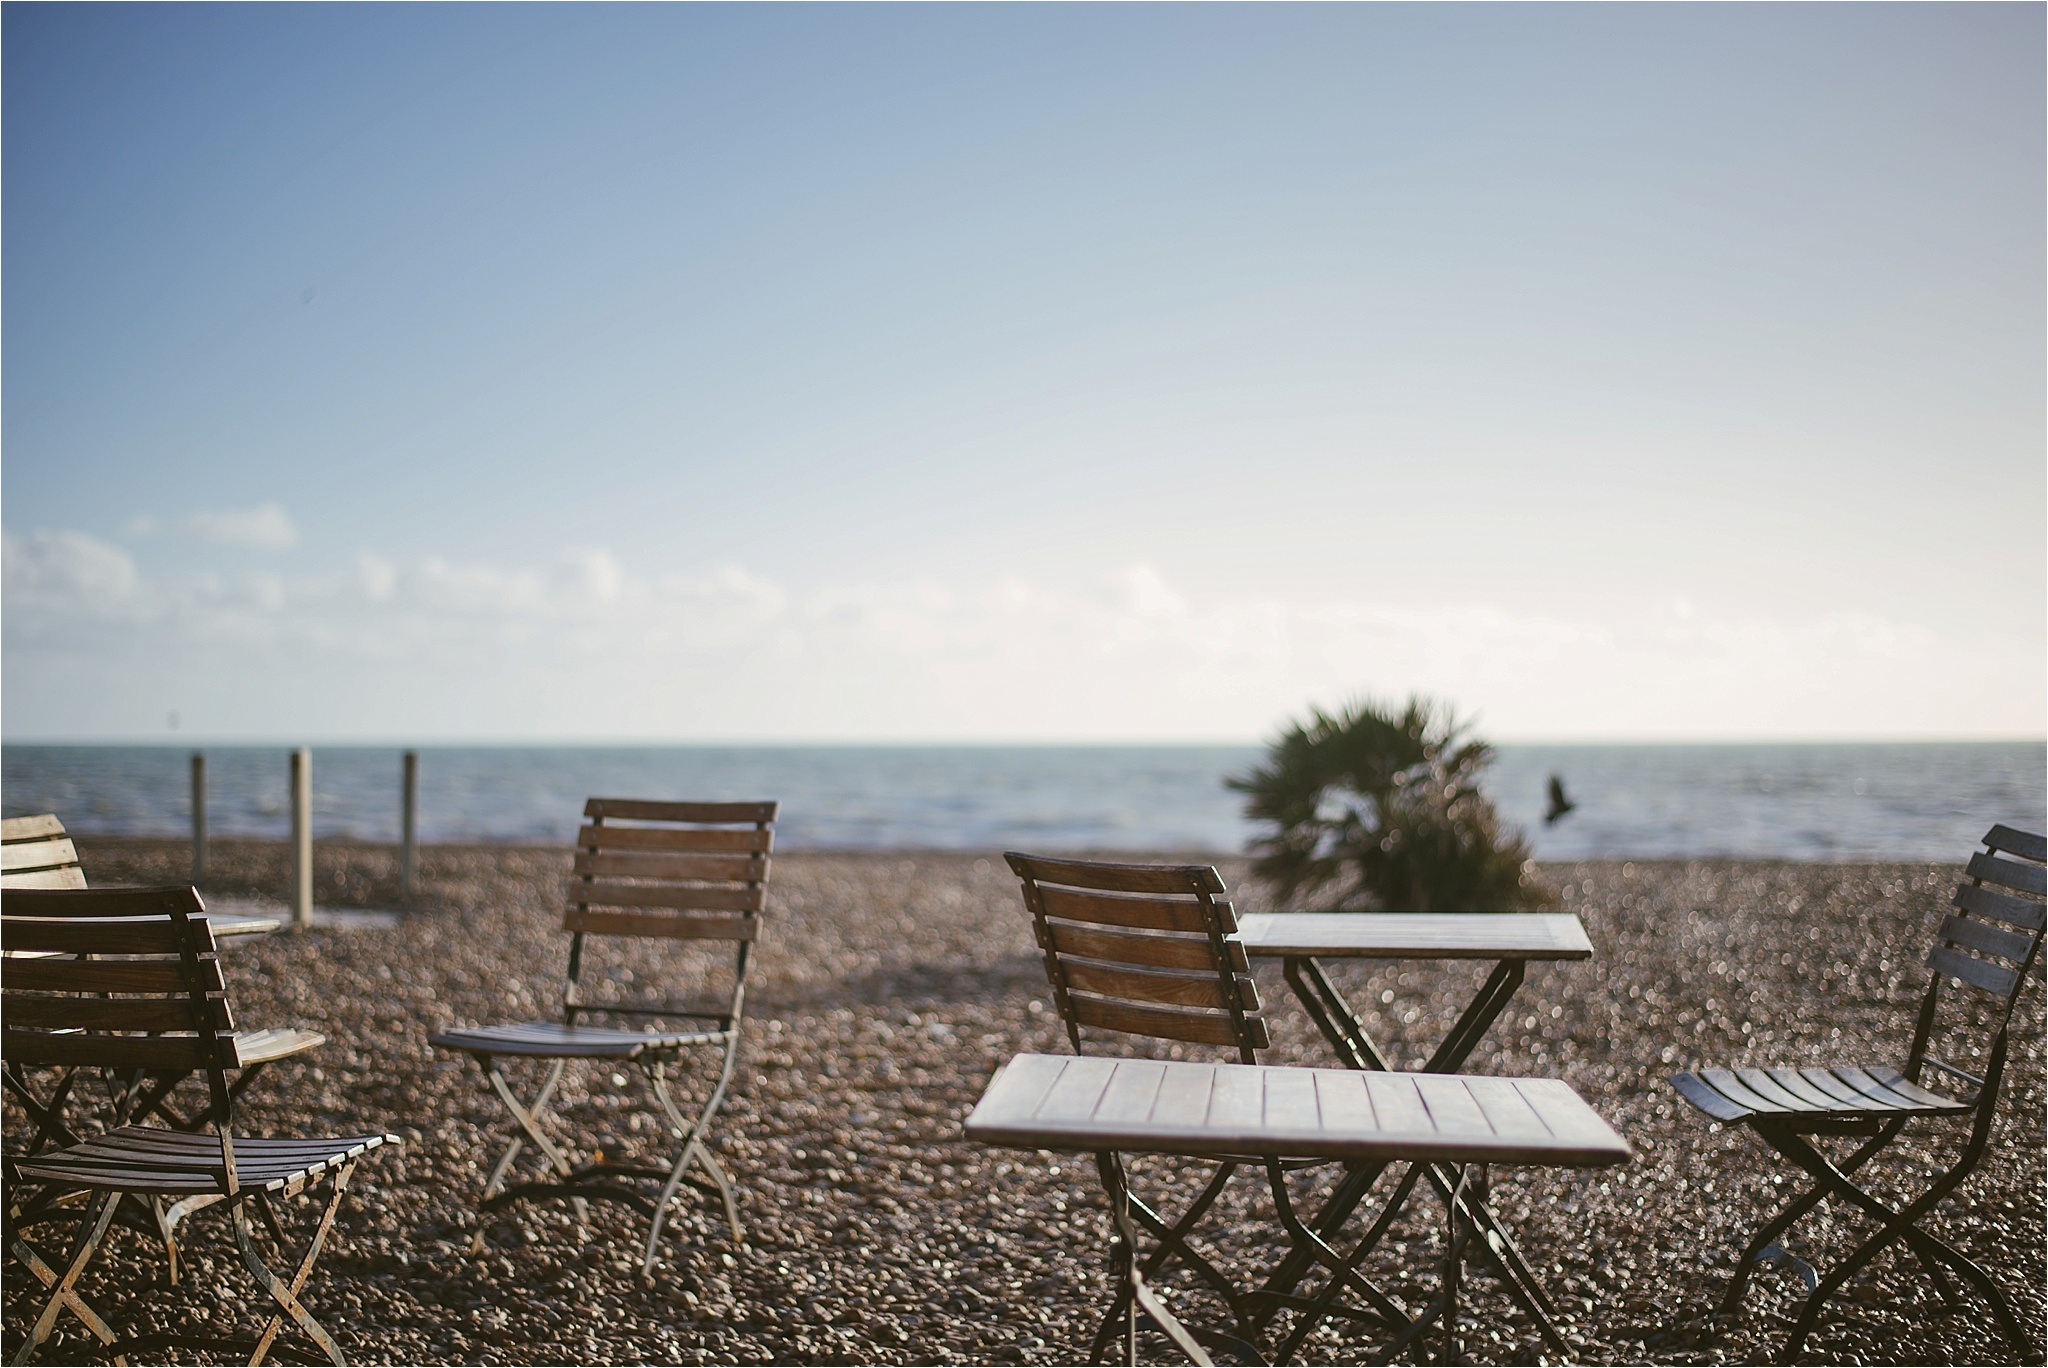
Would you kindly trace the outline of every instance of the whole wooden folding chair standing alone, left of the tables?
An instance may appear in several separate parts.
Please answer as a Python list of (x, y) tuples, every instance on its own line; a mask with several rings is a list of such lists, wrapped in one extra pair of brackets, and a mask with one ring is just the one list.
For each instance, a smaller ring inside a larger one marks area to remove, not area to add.
[[(760, 936), (774, 815), (774, 803), (590, 799), (584, 805), (588, 823), (575, 838), (575, 872), (563, 915), (571, 938), (561, 1022), (457, 1026), (432, 1036), (432, 1044), (463, 1051), (477, 1061), (520, 1130), (483, 1182), (475, 1249), (483, 1247), (483, 1219), (512, 1202), (567, 1198), (582, 1216), (586, 1198), (598, 1198), (647, 1216), (641, 1270), (651, 1272), (670, 1202), (682, 1186), (717, 1196), (725, 1204), (733, 1241), (741, 1239), (733, 1184), (711, 1153), (707, 1132), (739, 1059), (748, 952)], [(584, 989), (584, 954), (592, 936), (729, 942), (731, 995), (723, 1003), (590, 999)], [(625, 1024), (592, 1024), (590, 1018)], [(721, 1051), (719, 1077), (696, 1116), (688, 1116), (670, 1089), (670, 1069), (686, 1051), (705, 1049)], [(506, 1059), (547, 1061), (530, 1102), (520, 1102), (512, 1089), (504, 1075)], [(549, 1104), (565, 1065), (578, 1059), (600, 1063), (604, 1071), (629, 1061), (639, 1067), (662, 1108), (662, 1122), (676, 1139), (676, 1151), (666, 1163), (627, 1163), (608, 1159), (602, 1151), (575, 1161), (555, 1143), (545, 1126)], [(547, 1175), (504, 1186), (526, 1145), (541, 1155)], [(705, 1178), (694, 1178), (692, 1167)], [(645, 1190), (649, 1184), (657, 1188), (653, 1198)]]

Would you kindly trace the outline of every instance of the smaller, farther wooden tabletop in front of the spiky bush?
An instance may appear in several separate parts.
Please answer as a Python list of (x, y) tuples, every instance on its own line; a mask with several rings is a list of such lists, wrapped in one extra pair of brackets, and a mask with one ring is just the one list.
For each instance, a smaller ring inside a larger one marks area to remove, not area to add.
[(1583, 960), (1593, 956), (1569, 911), (1247, 911), (1245, 954), (1417, 960)]

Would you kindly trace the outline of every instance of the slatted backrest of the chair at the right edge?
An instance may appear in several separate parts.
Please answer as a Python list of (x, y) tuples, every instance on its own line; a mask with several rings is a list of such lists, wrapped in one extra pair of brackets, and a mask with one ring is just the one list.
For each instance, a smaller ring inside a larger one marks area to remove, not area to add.
[[(2048, 924), (2048, 840), (2032, 831), (1995, 825), (1985, 833), (1985, 850), (1970, 856), (1964, 883), (1956, 887), (1956, 911), (1944, 917), (1927, 952), (1933, 977), (1921, 1001), (1919, 1026), (1913, 1034), (1909, 1069), (1931, 1065), (1980, 1089), (1997, 1092), (1997, 1067), (2005, 1059), (2005, 1032), (2025, 981), (2042, 963), (2042, 930)], [(1935, 1003), (1948, 981), (1958, 981), (1995, 1003), (1999, 1032), (1993, 1049), (1995, 1069), (1978, 1077), (1952, 1061), (1927, 1055), (1935, 1022)]]

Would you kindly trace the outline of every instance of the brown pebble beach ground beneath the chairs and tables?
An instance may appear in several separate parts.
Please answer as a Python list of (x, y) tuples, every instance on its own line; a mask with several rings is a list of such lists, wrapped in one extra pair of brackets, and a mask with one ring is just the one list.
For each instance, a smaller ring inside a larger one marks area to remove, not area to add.
[[(174, 883), (186, 864), (178, 842), (80, 846), (102, 885)], [(215, 893), (285, 887), (281, 846), (217, 842), (211, 858)], [(1241, 862), (1221, 868), (1233, 887), (1245, 879)], [(528, 1206), (492, 1221), (487, 1251), (469, 1257), (469, 1200), (504, 1124), (475, 1065), (428, 1049), (426, 1034), (551, 1014), (565, 958), (551, 897), (565, 870), (565, 852), (432, 848), (401, 926), (281, 934), (227, 950), (244, 1024), (330, 1036), (252, 1089), (242, 1128), (406, 1137), (358, 1171), (307, 1296), (356, 1362), (1085, 1358), (1106, 1294), (1106, 1214), (1092, 1165), (981, 1149), (958, 1132), (997, 1063), (1065, 1049), (1016, 881), (993, 856), (776, 860), (772, 936), (719, 1137), (743, 1190), (743, 1247), (711, 1202), (696, 1202), (643, 1278), (641, 1225), (629, 1210), (598, 1206), (578, 1231), (565, 1208)], [(1925, 983), (1917, 963), (1956, 868), (1692, 860), (1550, 864), (1540, 874), (1585, 917), (1597, 954), (1534, 969), (1468, 1067), (1569, 1079), (1630, 1139), (1636, 1159), (1595, 1173), (1497, 1169), (1495, 1208), (1567, 1307), (1583, 1362), (1763, 1362), (1804, 1290), (1794, 1272), (1761, 1272), (1718, 1333), (1706, 1313), (1788, 1169), (1751, 1137), (1704, 1124), (1663, 1075), (1702, 1063), (1901, 1061)], [(322, 848), (319, 899), (393, 905), (395, 854)], [(1241, 905), (1257, 907), (1257, 891)], [(653, 965), (629, 969), (645, 977)], [(1354, 1001), (1372, 1003), (1380, 1040), (1419, 1063), (1481, 975), (1386, 965), (1339, 971), (1339, 981)], [(1327, 1063), (1278, 969), (1260, 977), (1274, 1008), (1272, 1059)], [(2048, 1300), (2042, 1034), (2032, 987), (1993, 1149), (1931, 1219), (1995, 1272), (2036, 1327)], [(602, 1073), (571, 1073), (563, 1106), (608, 1153), (651, 1139)], [(10, 1132), (18, 1120), (10, 1110)], [(1911, 1190), (1954, 1143), (1927, 1135), (1937, 1143), (1898, 1147), (1880, 1165), (1878, 1190)], [(1157, 1178), (1184, 1184), (1174, 1171)], [(1264, 1241), (1278, 1239), (1255, 1188), (1239, 1184), (1212, 1227), (1227, 1231), (1227, 1264), (1255, 1264)], [(1409, 1266), (1425, 1270), (1436, 1257), (1438, 1225), (1434, 1202), (1413, 1202), (1370, 1266), (1409, 1305), (1430, 1292)], [(201, 1214), (186, 1229), (203, 1290), (164, 1288), (160, 1255), (117, 1233), (119, 1257), (88, 1278), (88, 1296), (127, 1325), (248, 1323), (256, 1302), (240, 1268), (227, 1272), (236, 1259), (221, 1223)], [(1823, 1264), (1868, 1229), (1825, 1208), (1792, 1249)], [(25, 1333), (27, 1282), (10, 1264), (8, 1354)], [(1198, 1302), (1188, 1288), (1171, 1294)], [(1464, 1352), (1477, 1362), (1544, 1356), (1487, 1274), (1473, 1274), (1464, 1305)], [(74, 1362), (86, 1348), (74, 1321), (63, 1327), (49, 1362)], [(1370, 1352), (1364, 1331), (1325, 1329), (1307, 1358), (1360, 1362)], [(1157, 1341), (1151, 1354), (1169, 1358)], [(1944, 1309), (1917, 1264), (1896, 1255), (1851, 1284), (1808, 1339), (1806, 1360), (2011, 1362), (1982, 1307)]]

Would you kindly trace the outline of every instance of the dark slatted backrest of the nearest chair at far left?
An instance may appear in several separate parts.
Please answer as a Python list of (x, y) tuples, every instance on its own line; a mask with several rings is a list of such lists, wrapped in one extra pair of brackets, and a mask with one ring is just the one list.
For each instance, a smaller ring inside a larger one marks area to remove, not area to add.
[(0, 1057), (59, 1069), (203, 1071), (236, 1192), (233, 1010), (199, 889), (0, 891)]

